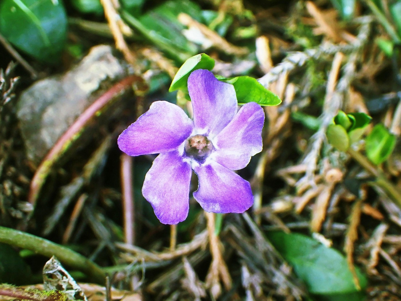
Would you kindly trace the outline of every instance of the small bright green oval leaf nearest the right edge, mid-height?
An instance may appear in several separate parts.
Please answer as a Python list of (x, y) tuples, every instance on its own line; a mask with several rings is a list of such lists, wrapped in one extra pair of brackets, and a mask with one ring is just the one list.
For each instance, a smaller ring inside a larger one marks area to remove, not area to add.
[(366, 155), (376, 165), (383, 163), (395, 147), (395, 135), (383, 124), (377, 124), (366, 137)]

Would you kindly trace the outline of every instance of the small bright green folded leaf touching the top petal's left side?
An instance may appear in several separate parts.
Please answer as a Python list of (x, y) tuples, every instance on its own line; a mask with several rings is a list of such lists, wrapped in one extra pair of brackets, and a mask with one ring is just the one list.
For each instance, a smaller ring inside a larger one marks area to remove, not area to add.
[(212, 70), (214, 66), (215, 60), (205, 53), (197, 54), (193, 57), (190, 57), (184, 62), (184, 64), (182, 64), (180, 69), (178, 69), (168, 91), (173, 92), (176, 89), (186, 87), (188, 77), (192, 71), (196, 69)]

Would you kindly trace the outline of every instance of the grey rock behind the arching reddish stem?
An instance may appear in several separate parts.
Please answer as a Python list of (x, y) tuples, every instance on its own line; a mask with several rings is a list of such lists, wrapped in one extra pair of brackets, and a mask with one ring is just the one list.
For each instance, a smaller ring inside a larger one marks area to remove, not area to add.
[(59, 137), (96, 99), (99, 89), (127, 74), (124, 63), (107, 45), (93, 47), (81, 62), (63, 75), (36, 81), (17, 104), (28, 158), (38, 165)]

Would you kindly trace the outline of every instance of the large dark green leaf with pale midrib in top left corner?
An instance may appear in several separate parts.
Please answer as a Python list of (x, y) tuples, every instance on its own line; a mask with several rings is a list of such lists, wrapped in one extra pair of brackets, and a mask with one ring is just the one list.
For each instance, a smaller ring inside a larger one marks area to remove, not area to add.
[(0, 32), (35, 59), (55, 63), (67, 37), (65, 9), (61, 1), (3, 0)]

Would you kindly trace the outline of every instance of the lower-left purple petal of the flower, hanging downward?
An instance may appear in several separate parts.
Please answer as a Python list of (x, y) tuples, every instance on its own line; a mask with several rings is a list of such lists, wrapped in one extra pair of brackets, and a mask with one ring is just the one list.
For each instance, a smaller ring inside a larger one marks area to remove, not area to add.
[(162, 153), (146, 173), (142, 194), (163, 224), (177, 224), (188, 216), (191, 167), (177, 150)]

